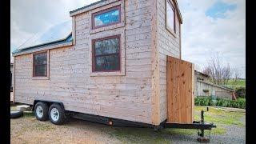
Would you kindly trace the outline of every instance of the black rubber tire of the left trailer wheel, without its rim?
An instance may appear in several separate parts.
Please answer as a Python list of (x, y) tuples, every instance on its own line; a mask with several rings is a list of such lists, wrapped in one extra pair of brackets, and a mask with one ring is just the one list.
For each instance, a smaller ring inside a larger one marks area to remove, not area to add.
[[(42, 106), (42, 117), (37, 114), (38, 106)], [(39, 121), (46, 121), (48, 119), (49, 107), (46, 102), (38, 102), (34, 106), (34, 115)]]

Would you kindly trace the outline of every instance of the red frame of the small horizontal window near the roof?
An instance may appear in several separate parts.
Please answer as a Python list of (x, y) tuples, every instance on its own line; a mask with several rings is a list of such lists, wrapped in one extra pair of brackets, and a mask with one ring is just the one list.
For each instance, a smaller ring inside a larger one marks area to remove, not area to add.
[[(106, 25), (102, 25), (102, 26), (95, 26), (95, 22), (94, 22), (95, 16), (99, 15), (99, 14), (107, 13), (107, 12), (109, 12), (111, 10), (119, 10), (119, 14), (118, 14), (119, 20), (118, 20), (118, 22), (113, 22), (113, 23), (109, 23), (109, 24), (106, 24)], [(113, 6), (113, 7), (110, 7), (108, 9), (100, 10), (98, 12), (95, 12), (95, 13), (91, 14), (91, 22), (92, 22), (92, 30), (95, 30), (95, 29), (98, 29), (98, 28), (102, 28), (102, 27), (106, 27), (106, 26), (112, 26), (112, 25), (116, 25), (118, 23), (121, 23), (121, 5)]]

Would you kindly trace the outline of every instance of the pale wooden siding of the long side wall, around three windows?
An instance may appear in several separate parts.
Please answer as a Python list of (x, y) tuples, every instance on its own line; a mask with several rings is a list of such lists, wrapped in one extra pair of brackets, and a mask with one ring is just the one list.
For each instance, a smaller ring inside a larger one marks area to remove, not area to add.
[[(16, 102), (33, 104), (35, 98), (56, 100), (63, 102), (66, 110), (152, 124), (150, 49), (153, 1), (121, 2), (125, 25), (112, 27), (114, 30), (90, 30), (91, 14), (107, 6), (74, 16), (75, 45), (49, 51), (48, 80), (32, 78), (32, 54), (17, 56)], [(122, 33), (124, 73), (92, 76), (91, 38)]]

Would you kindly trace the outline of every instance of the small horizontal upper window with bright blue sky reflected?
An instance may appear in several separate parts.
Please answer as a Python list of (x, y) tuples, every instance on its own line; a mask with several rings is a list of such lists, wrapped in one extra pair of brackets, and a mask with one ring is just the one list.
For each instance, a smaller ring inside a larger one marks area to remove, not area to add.
[(93, 29), (103, 26), (110, 26), (121, 22), (121, 6), (114, 6), (92, 14)]

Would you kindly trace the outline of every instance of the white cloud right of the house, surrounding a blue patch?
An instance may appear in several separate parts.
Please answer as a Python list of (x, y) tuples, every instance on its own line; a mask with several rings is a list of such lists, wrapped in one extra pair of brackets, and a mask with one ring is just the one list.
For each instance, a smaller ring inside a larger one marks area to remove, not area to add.
[(246, 21), (245, 2), (242, 0), (223, 0), (227, 6), (236, 8), (218, 10), (223, 17), (212, 17), (206, 12), (213, 9), (217, 0), (183, 0), (179, 6), (182, 11), (182, 58), (206, 66), (206, 60), (218, 52), (230, 66), (242, 70), (245, 78), (246, 67)]

